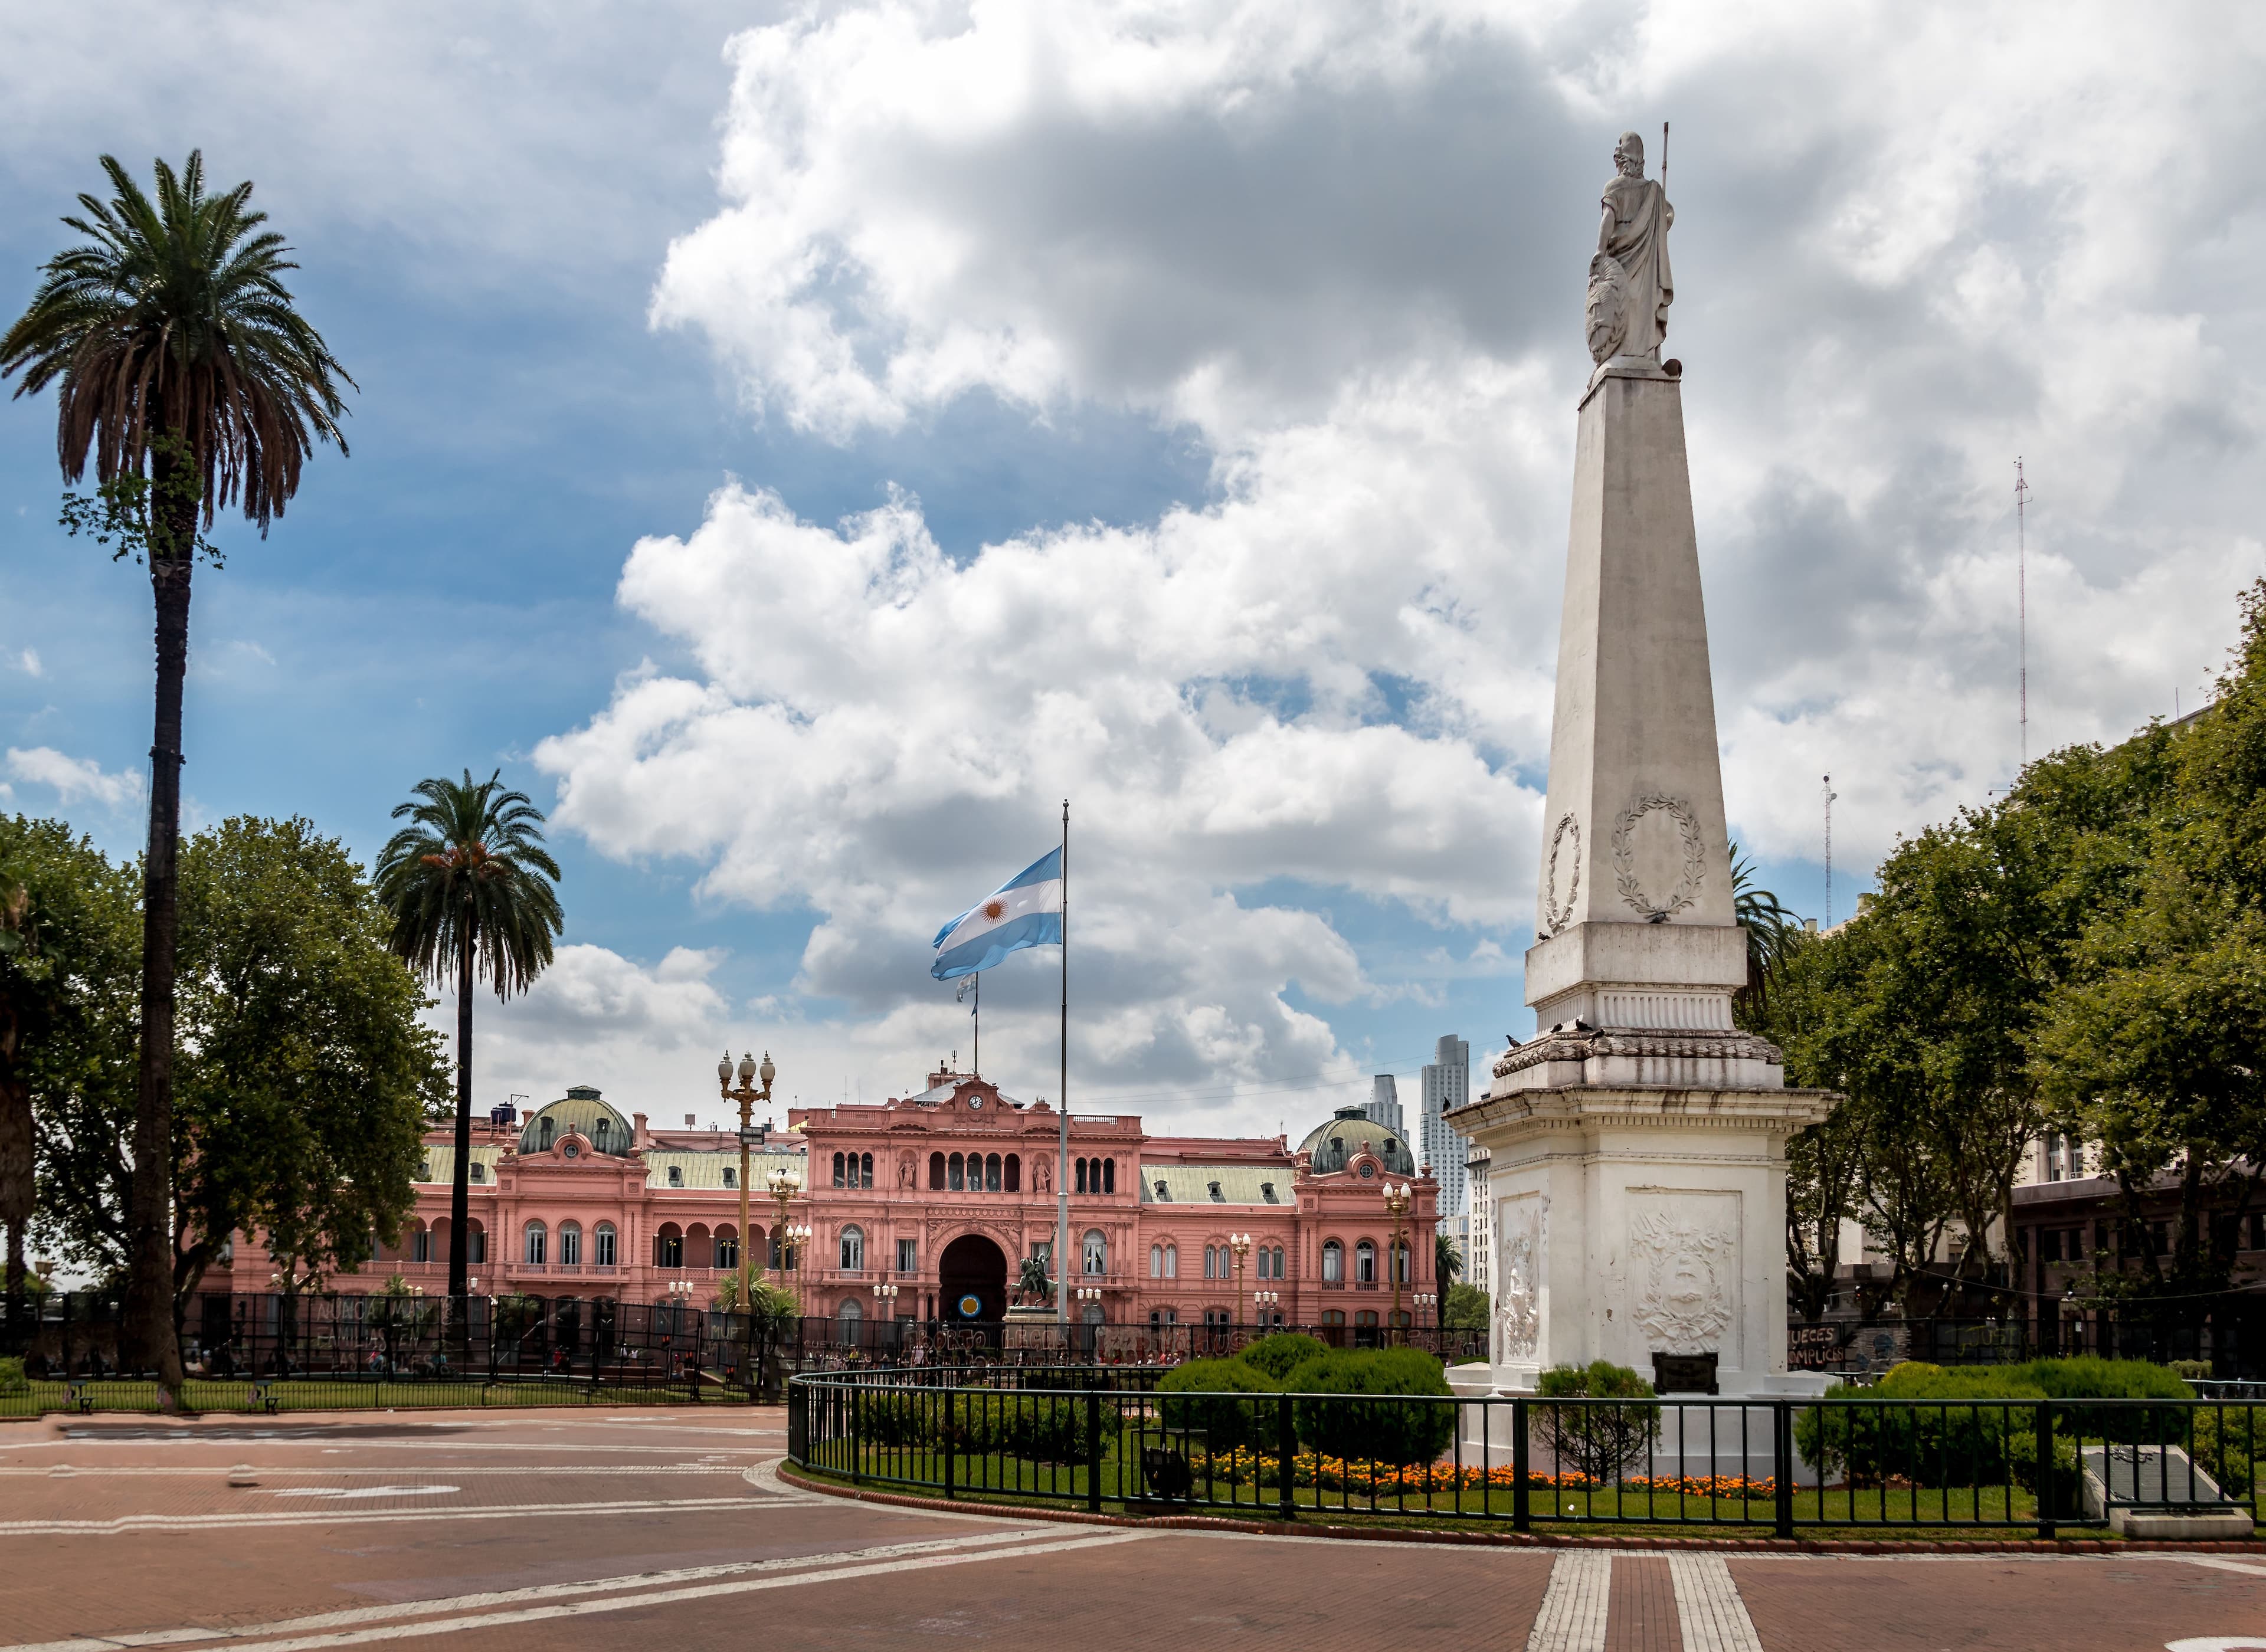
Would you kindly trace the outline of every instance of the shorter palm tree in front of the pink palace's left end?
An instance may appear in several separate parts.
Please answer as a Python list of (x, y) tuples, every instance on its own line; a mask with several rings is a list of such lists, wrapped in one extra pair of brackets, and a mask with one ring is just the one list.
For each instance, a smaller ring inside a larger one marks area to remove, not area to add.
[(378, 900), (392, 913), (387, 945), (435, 986), (455, 986), (455, 1172), (449, 1190), (449, 1296), (469, 1287), (471, 1221), (471, 983), (485, 974), (499, 999), (526, 993), (551, 963), (560, 931), (557, 861), (544, 848), (542, 809), (503, 789), (503, 770), (476, 782), (419, 780), (394, 809), (412, 825), (378, 854)]

